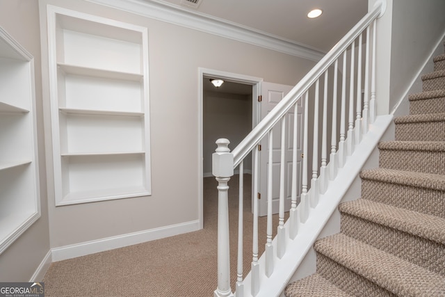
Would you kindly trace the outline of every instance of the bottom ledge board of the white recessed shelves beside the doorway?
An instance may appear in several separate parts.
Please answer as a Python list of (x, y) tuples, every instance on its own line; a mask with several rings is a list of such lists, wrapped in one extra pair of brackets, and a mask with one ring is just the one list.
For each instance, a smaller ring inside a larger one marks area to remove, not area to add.
[(57, 206), (151, 195), (144, 186), (68, 193)]

